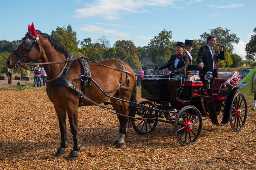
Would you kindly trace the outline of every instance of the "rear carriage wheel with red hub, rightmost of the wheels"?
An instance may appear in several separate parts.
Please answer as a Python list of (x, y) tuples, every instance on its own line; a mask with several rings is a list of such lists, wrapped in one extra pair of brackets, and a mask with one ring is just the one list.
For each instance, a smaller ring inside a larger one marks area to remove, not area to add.
[(230, 108), (229, 123), (234, 131), (240, 131), (245, 126), (247, 103), (244, 94), (237, 93)]

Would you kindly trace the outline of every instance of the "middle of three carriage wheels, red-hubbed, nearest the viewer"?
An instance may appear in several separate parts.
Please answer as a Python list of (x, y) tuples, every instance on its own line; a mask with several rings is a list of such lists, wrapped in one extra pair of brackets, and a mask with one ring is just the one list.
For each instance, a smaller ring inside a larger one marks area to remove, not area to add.
[(174, 122), (174, 134), (182, 145), (195, 143), (203, 129), (200, 111), (194, 106), (185, 106), (177, 114)]

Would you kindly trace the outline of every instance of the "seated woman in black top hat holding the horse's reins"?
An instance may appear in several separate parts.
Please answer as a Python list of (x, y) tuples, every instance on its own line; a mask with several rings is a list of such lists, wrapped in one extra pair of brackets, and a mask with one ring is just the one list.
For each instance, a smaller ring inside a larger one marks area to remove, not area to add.
[(188, 73), (186, 72), (186, 69), (189, 65), (189, 56), (187, 53), (183, 52), (185, 50), (185, 43), (178, 41), (175, 46), (177, 54), (171, 55), (171, 58), (167, 63), (156, 67), (155, 69), (161, 70), (168, 68), (168, 70), (171, 71), (170, 78), (180, 80), (181, 77), (182, 80), (187, 80)]

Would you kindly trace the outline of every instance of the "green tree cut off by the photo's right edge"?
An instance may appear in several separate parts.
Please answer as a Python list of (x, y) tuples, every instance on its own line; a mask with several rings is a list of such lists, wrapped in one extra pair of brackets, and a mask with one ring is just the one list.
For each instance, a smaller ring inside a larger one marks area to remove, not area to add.
[(256, 27), (253, 29), (254, 34), (252, 34), (249, 42), (246, 44), (246, 59), (249, 62), (255, 61), (256, 56)]

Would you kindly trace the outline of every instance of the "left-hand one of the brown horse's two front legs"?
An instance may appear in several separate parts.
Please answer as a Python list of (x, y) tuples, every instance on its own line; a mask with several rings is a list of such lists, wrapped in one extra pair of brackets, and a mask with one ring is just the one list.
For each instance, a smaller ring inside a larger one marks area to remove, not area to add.
[(57, 107), (54, 105), (55, 111), (58, 116), (60, 131), (61, 131), (61, 147), (57, 149), (57, 152), (54, 154), (55, 157), (62, 157), (66, 153), (65, 148), (68, 145), (67, 133), (66, 133), (66, 109)]

